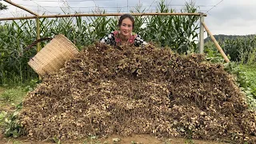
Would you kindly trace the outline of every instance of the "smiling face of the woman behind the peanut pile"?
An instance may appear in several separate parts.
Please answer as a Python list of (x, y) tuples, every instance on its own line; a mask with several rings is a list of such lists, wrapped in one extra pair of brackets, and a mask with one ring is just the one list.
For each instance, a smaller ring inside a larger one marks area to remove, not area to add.
[(130, 18), (125, 18), (122, 20), (122, 24), (120, 26), (120, 32), (124, 36), (129, 36), (133, 30), (133, 22), (131, 22)]

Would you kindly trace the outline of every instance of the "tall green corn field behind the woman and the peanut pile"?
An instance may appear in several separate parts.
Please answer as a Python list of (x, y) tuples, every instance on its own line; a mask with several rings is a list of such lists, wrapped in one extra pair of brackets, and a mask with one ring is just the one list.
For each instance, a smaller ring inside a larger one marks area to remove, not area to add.
[[(143, 13), (137, 7), (130, 13)], [(158, 13), (172, 13), (165, 2), (158, 2)], [(194, 3), (187, 3), (181, 12), (196, 13)], [(103, 13), (104, 12), (103, 10)], [(196, 48), (198, 39), (198, 16), (155, 15), (135, 16), (134, 32), (142, 35), (146, 42), (158, 46), (169, 46), (180, 54), (190, 53)], [(75, 17), (40, 18), (40, 37), (54, 38), (55, 34), (64, 34), (82, 50), (98, 42), (105, 34), (116, 30), (118, 17)], [(27, 62), (37, 53), (35, 46), (27, 48), (37, 38), (34, 19), (2, 22), (0, 25), (0, 85), (20, 83), (37, 78), (38, 75)], [(46, 42), (41, 42), (41, 47)]]

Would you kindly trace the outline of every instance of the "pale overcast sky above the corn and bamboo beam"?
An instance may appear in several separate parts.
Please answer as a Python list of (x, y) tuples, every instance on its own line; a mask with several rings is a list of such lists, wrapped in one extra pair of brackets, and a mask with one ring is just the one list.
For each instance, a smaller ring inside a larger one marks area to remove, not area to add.
[[(107, 13), (127, 13), (134, 6), (142, 5), (146, 12), (155, 11), (160, 0), (11, 0), (38, 14), (63, 14), (62, 11), (74, 14), (74, 11), (88, 13), (92, 10), (106, 10)], [(0, 18), (30, 15), (24, 10), (10, 6), (9, 10), (0, 11)], [(166, 0), (170, 8), (179, 12), (190, 0)], [(194, 0), (198, 11), (207, 14), (206, 25), (212, 34), (246, 35), (256, 34), (256, 0)], [(96, 7), (95, 7), (96, 6)], [(62, 7), (62, 9), (61, 9)]]

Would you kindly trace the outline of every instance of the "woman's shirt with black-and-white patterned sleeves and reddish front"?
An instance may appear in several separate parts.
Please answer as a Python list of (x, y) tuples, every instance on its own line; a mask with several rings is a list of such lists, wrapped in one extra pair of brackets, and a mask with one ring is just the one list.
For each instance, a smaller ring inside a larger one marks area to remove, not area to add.
[[(105, 37), (100, 39), (100, 42), (106, 43), (112, 46), (121, 46), (122, 39), (119, 36), (119, 31), (115, 30), (110, 34), (106, 34)], [(146, 45), (147, 43), (142, 39), (142, 37), (138, 34), (132, 33), (130, 38), (127, 41), (129, 44), (134, 44), (134, 46)]]

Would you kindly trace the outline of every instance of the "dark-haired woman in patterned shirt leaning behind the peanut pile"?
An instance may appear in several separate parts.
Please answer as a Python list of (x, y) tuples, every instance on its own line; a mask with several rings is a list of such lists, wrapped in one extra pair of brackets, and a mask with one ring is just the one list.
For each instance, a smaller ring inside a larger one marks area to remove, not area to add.
[(133, 33), (134, 18), (130, 14), (123, 14), (118, 21), (119, 30), (115, 30), (110, 34), (106, 34), (101, 38), (100, 42), (106, 43), (112, 46), (121, 45), (134, 45), (142, 46), (146, 45), (146, 42), (138, 34)]

